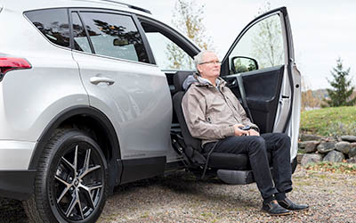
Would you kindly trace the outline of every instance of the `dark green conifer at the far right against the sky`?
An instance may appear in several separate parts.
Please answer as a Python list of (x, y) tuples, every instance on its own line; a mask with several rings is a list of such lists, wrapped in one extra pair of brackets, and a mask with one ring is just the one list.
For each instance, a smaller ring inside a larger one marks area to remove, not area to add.
[(341, 58), (337, 59), (336, 67), (331, 70), (333, 80), (329, 80), (328, 83), (333, 87), (327, 89), (328, 100), (324, 100), (330, 107), (339, 106), (352, 106), (356, 103), (356, 97), (352, 98), (352, 93), (355, 87), (351, 86), (351, 79), (348, 79), (350, 74), (350, 68), (344, 70), (343, 62)]

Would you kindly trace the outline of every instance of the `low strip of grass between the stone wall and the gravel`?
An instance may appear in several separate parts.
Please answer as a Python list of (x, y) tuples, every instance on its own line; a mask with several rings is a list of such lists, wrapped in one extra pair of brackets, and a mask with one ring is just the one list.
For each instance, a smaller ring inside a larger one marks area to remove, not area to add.
[[(305, 169), (308, 171), (328, 171), (333, 173), (345, 173), (356, 175), (356, 164), (347, 162), (321, 161), (308, 164)], [(325, 178), (325, 176), (323, 176)]]

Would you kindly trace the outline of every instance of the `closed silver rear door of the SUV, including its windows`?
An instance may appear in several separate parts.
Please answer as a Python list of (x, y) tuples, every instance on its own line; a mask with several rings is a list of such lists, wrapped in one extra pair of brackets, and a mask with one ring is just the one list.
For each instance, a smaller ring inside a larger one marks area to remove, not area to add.
[[(147, 178), (150, 171), (163, 171), (172, 100), (165, 74), (150, 64), (134, 16), (96, 9), (70, 13), (73, 58), (90, 105), (104, 112), (116, 129), (124, 166), (137, 167), (127, 176), (146, 173)], [(124, 171), (122, 182), (132, 180), (125, 176)]]

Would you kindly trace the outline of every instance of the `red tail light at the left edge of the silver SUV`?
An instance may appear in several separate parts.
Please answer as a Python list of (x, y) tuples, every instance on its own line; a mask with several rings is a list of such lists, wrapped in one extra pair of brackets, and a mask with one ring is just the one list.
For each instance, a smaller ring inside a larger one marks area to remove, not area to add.
[(31, 64), (26, 59), (15, 57), (0, 57), (0, 81), (10, 70), (30, 69)]

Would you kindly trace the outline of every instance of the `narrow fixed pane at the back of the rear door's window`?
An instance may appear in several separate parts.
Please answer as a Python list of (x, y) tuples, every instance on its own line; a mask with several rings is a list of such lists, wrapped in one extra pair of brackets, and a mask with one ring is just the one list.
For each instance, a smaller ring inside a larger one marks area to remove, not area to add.
[(79, 19), (77, 12), (72, 13), (72, 22), (73, 22), (73, 38), (74, 38), (74, 47), (76, 50), (92, 53), (90, 48), (88, 38), (85, 34), (85, 29), (82, 21)]

